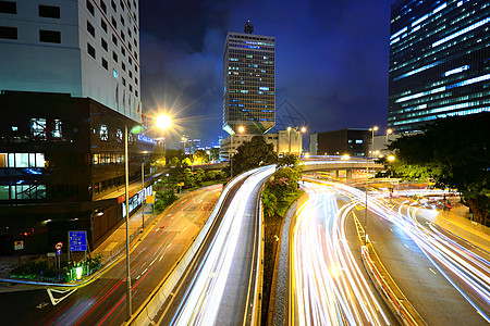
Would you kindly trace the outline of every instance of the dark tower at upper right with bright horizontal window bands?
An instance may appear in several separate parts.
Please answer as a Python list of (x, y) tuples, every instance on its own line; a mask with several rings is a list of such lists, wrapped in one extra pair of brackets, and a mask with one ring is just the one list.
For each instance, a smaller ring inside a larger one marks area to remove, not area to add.
[(396, 1), (391, 7), (388, 126), (396, 134), (490, 111), (490, 3)]

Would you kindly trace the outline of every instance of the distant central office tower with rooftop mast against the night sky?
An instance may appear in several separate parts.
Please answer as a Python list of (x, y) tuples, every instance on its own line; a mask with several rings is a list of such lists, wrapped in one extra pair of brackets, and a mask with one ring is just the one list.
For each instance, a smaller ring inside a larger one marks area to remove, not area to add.
[(223, 129), (265, 134), (275, 125), (275, 38), (228, 33), (223, 52)]

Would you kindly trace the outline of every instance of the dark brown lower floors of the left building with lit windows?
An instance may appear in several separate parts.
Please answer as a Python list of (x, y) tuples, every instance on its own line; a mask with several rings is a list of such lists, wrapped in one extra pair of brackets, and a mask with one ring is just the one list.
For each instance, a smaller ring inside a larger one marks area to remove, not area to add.
[[(97, 247), (124, 221), (124, 126), (135, 122), (58, 93), (4, 92), (0, 109), (10, 110), (0, 121), (0, 252), (14, 240), (25, 252), (52, 249), (76, 229)], [(152, 139), (130, 134), (130, 181), (140, 186), (152, 150)], [(138, 191), (130, 192), (132, 210)]]

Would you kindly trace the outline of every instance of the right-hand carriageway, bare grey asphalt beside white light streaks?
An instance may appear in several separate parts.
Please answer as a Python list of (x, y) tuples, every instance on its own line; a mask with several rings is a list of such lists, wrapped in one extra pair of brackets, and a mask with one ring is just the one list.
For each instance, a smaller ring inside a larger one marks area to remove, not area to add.
[[(350, 196), (359, 206), (364, 204), (364, 191), (341, 184), (328, 185), (336, 192)], [(379, 198), (376, 192), (370, 192), (368, 206), (376, 213), (368, 215), (369, 239), (387, 269), (428, 325), (488, 325), (488, 303), (477, 304), (480, 306), (480, 311), (477, 311), (470, 302), (475, 298), (465, 298), (468, 288), (463, 287), (460, 292), (451, 278), (444, 276), (444, 269), (439, 269), (439, 266), (444, 266), (441, 261), (448, 254), (448, 251), (444, 253), (437, 246), (440, 235), (427, 235), (401, 211), (391, 210), (387, 200)], [(364, 218), (364, 211), (353, 212), (359, 220)], [(449, 243), (448, 239), (442, 242)], [(486, 264), (485, 259), (479, 262)], [(483, 272), (479, 281), (486, 283), (485, 277), (488, 275), (488, 272)]]

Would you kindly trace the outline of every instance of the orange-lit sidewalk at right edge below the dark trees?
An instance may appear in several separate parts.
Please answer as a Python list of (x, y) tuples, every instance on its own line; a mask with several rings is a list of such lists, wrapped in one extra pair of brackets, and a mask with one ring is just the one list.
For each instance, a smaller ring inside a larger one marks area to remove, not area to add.
[(469, 209), (460, 203), (458, 199), (451, 198), (452, 209), (450, 212), (438, 210), (438, 214), (432, 214), (431, 210), (427, 211), (424, 216), (450, 230), (456, 236), (464, 238), (478, 247), (490, 252), (490, 228), (469, 221)]

